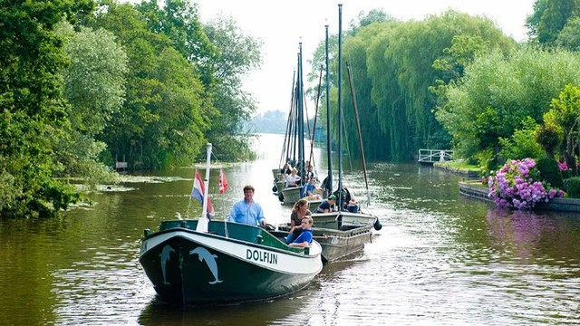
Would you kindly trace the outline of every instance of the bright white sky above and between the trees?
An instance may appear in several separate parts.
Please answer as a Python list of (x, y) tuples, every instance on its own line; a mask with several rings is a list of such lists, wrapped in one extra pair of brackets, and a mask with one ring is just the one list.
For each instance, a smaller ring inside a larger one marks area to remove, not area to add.
[[(206, 23), (218, 14), (232, 16), (243, 34), (261, 40), (263, 63), (251, 72), (244, 90), (257, 101), (256, 113), (290, 110), (292, 78), (296, 69), (298, 43), (303, 43), (304, 74), (307, 60), (318, 43), (324, 41), (324, 25), (329, 34), (338, 33), (338, 4), (343, 5), (343, 31), (361, 11), (382, 9), (402, 21), (422, 20), (451, 8), (472, 15), (485, 15), (495, 21), (504, 34), (517, 41), (527, 39), (524, 26), (532, 14), (535, 0), (193, 0)], [(318, 73), (318, 72), (316, 72)], [(314, 85), (316, 86), (316, 85)], [(313, 103), (307, 103), (314, 110)]]

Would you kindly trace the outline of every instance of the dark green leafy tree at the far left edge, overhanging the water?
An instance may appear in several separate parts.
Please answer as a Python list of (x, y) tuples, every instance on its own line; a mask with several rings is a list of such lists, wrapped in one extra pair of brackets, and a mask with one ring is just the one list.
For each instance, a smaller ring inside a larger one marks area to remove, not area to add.
[(54, 177), (68, 129), (60, 75), (67, 61), (55, 24), (92, 12), (90, 0), (0, 5), (0, 216), (54, 216), (76, 200)]

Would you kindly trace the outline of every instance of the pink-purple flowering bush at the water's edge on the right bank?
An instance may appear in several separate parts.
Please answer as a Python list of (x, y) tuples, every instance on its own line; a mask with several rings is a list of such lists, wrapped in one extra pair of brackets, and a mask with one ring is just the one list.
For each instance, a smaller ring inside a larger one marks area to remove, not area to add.
[[(499, 169), (496, 177), (488, 177), (488, 197), (493, 198), (498, 206), (531, 209), (537, 202), (547, 203), (554, 197), (564, 196), (564, 191), (535, 181), (539, 177), (536, 161), (532, 158), (513, 159)], [(546, 191), (546, 187), (549, 190)]]

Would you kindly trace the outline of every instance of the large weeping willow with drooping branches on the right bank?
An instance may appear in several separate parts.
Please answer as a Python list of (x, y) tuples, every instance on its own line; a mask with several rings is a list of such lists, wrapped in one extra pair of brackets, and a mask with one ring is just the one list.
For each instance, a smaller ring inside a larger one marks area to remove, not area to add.
[(454, 11), (424, 21), (379, 26), (382, 28), (373, 27), (378, 30), (366, 42), (366, 64), (378, 123), (382, 134), (390, 136), (391, 159), (408, 159), (421, 147), (446, 145), (433, 114), (436, 98), (430, 86), (449, 72), (436, 69), (434, 62), (447, 55), (444, 50), (460, 35), (477, 35), (487, 49), (511, 46), (512, 42), (488, 18)]

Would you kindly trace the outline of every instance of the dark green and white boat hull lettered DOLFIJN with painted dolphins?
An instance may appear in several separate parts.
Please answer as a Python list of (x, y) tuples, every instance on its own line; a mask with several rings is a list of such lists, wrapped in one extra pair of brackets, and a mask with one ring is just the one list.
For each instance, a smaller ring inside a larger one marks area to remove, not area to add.
[(145, 230), (140, 264), (161, 302), (184, 305), (272, 299), (304, 289), (320, 273), (322, 247), (285, 245), (281, 235), (225, 221), (172, 220)]

